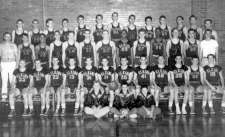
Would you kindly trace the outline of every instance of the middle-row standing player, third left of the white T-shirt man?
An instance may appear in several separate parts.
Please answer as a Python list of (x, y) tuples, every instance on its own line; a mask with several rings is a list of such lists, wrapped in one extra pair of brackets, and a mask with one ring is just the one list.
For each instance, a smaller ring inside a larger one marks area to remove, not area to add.
[(150, 65), (154, 66), (158, 64), (158, 57), (166, 57), (166, 44), (167, 41), (161, 37), (159, 28), (155, 29), (155, 38), (151, 41), (150, 49)]

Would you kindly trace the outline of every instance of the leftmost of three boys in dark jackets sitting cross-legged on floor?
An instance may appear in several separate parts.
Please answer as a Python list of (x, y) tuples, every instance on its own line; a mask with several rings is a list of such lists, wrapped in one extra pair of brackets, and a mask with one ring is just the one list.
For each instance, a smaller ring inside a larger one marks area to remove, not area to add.
[(101, 118), (110, 111), (110, 94), (105, 92), (99, 81), (95, 81), (93, 88), (85, 95), (84, 112), (87, 115)]

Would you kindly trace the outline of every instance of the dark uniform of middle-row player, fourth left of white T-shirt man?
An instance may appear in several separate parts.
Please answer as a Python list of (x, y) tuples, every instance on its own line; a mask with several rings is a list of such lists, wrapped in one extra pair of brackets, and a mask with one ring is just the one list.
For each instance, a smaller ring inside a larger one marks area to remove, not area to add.
[(136, 53), (134, 55), (134, 66), (139, 66), (140, 65), (140, 58), (141, 56), (147, 57), (147, 46), (146, 46), (146, 41), (141, 43), (140, 41), (137, 42), (137, 47), (136, 47)]

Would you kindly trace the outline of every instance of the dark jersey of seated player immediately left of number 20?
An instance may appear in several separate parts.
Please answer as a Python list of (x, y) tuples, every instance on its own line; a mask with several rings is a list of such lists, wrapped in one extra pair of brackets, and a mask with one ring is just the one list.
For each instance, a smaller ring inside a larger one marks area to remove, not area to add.
[(112, 75), (114, 73), (113, 68), (109, 67), (108, 70), (104, 70), (103, 68), (99, 68), (98, 73), (101, 75), (102, 81), (104, 83), (112, 82)]

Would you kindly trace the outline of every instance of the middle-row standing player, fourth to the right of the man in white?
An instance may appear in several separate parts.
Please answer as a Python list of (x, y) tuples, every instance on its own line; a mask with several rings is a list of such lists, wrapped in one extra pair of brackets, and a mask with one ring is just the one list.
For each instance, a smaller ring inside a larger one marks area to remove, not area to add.
[(65, 41), (62, 45), (62, 61), (63, 67), (68, 66), (69, 58), (74, 58), (76, 66), (79, 66), (79, 45), (74, 39), (74, 32), (68, 32), (68, 41)]

